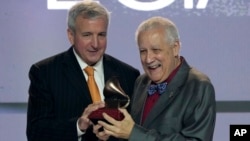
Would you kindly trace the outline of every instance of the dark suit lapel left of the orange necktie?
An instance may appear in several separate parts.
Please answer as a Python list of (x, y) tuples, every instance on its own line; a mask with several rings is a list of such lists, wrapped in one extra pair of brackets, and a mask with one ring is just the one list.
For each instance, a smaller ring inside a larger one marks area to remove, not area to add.
[(64, 67), (62, 69), (64, 69), (64, 73), (67, 79), (73, 86), (75, 86), (75, 90), (80, 94), (80, 97), (91, 102), (92, 100), (90, 97), (87, 82), (85, 81), (85, 77), (82, 73), (80, 65), (78, 64), (74, 56), (73, 48), (70, 48), (66, 52), (63, 63)]

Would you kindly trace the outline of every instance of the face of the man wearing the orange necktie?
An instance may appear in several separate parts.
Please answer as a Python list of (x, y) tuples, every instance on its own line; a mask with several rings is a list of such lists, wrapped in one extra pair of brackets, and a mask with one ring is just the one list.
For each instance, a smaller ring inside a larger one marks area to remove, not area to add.
[(94, 19), (78, 16), (75, 32), (68, 29), (68, 38), (76, 53), (88, 65), (94, 65), (103, 56), (107, 46), (108, 22), (105, 18)]

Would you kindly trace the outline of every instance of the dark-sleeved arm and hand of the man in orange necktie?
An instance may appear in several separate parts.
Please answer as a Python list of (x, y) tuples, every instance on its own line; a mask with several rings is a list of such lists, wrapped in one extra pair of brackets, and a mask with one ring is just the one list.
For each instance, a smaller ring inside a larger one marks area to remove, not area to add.
[[(86, 131), (91, 125), (88, 115), (104, 104), (90, 104), (84, 109), (82, 100), (77, 101), (79, 98), (74, 95), (76, 92), (72, 88), (64, 88), (70, 85), (68, 82), (64, 83), (67, 80), (57, 80), (52, 72), (54, 71), (48, 71), (48, 68), (35, 65), (31, 67), (27, 138), (29, 141), (77, 141), (81, 137), (77, 133), (77, 125), (79, 129)], [(53, 82), (49, 79), (53, 79)]]

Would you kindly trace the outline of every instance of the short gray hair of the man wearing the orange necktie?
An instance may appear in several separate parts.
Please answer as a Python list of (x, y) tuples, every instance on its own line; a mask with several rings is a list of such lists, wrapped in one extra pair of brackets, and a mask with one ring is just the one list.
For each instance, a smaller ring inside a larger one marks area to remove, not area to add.
[(86, 19), (95, 19), (103, 17), (109, 25), (110, 12), (106, 7), (93, 0), (84, 0), (78, 2), (69, 9), (68, 12), (68, 28), (75, 32), (76, 18), (81, 15)]

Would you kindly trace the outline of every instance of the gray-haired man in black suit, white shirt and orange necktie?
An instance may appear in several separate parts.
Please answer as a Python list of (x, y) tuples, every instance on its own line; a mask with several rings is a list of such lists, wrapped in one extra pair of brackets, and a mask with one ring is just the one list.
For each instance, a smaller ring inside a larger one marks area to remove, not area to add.
[(105, 54), (108, 25), (109, 12), (100, 3), (83, 1), (69, 10), (72, 46), (29, 71), (28, 141), (97, 141), (88, 116), (105, 106), (105, 82), (115, 76), (132, 94), (139, 71)]

